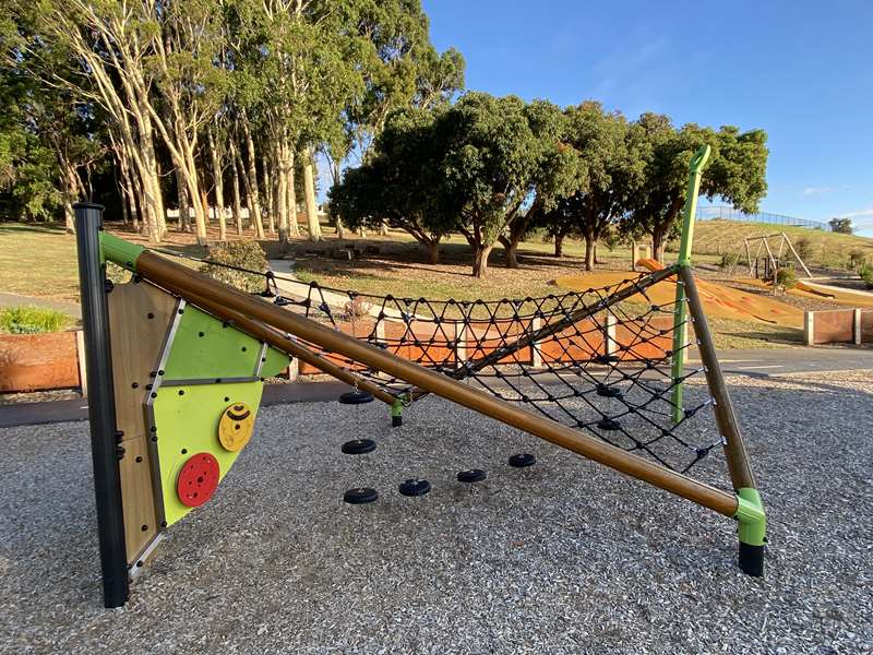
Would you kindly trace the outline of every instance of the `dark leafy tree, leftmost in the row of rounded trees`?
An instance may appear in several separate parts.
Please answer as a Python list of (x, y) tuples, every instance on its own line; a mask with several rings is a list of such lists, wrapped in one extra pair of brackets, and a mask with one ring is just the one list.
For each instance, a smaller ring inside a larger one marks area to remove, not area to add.
[(435, 138), (435, 121), (433, 111), (421, 109), (393, 114), (373, 156), (346, 170), (330, 192), (334, 217), (343, 216), (352, 229), (375, 229), (386, 221), (421, 243), (432, 264), (440, 259), (440, 240), (452, 228), (439, 199), (442, 144)]

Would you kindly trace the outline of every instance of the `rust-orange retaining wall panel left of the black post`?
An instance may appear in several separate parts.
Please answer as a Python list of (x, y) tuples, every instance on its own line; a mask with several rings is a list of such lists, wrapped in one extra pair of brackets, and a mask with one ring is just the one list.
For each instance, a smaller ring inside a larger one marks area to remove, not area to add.
[(79, 386), (74, 332), (0, 335), (0, 391)]

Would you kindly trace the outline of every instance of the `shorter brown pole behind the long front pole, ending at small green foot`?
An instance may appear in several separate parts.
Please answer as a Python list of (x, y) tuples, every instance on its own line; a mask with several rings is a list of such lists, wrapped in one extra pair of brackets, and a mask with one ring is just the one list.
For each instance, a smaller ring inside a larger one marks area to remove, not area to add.
[(398, 401), (396, 396), (387, 393), (381, 386), (373, 384), (369, 380), (337, 366), (325, 357), (316, 355), (278, 330), (274, 330), (268, 325), (264, 325), (263, 323), (254, 321), (228, 307), (224, 307), (196, 294), (187, 295), (187, 300), (196, 307), (200, 307), (201, 309), (205, 309), (212, 314), (220, 315), (222, 319), (229, 321), (234, 325), (237, 325), (240, 330), (249, 335), (268, 343), (271, 346), (282, 350), (283, 353), (287, 353), (291, 357), (296, 357), (300, 361), (304, 361), (310, 366), (315, 367), (321, 372), (332, 376), (340, 382), (350, 384), (351, 386), (360, 389), (361, 391), (371, 393), (373, 397), (379, 398), (386, 405), (393, 406)]

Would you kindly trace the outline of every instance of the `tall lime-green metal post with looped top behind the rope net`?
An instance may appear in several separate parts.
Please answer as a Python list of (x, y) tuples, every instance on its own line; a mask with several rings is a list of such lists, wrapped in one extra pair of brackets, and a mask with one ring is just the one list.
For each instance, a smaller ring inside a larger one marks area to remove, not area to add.
[[(685, 195), (685, 206), (682, 211), (682, 240), (679, 245), (678, 266), (691, 265), (691, 246), (694, 240), (694, 216), (697, 213), (697, 196), (701, 193), (701, 178), (703, 168), (709, 159), (711, 148), (708, 145), (701, 147), (689, 164), (689, 188)], [(673, 422), (678, 424), (684, 418), (685, 410), (682, 406), (682, 374), (685, 370), (685, 344), (687, 343), (687, 324), (685, 323), (685, 287), (680, 279), (675, 281), (675, 306), (673, 311)]]

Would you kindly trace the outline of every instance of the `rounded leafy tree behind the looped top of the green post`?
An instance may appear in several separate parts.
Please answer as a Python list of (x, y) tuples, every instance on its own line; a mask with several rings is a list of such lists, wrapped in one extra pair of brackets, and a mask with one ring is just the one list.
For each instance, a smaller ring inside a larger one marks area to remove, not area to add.
[(675, 130), (666, 116), (644, 114), (637, 121), (645, 151), (645, 183), (633, 198), (625, 234), (651, 236), (653, 254), (663, 260), (667, 239), (678, 233), (685, 203), (687, 167), (703, 145), (713, 148), (701, 192), (709, 200), (721, 196), (746, 213), (757, 211), (767, 191), (767, 134), (763, 130), (741, 133), (725, 126), (718, 131), (690, 123)]

